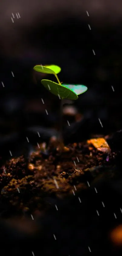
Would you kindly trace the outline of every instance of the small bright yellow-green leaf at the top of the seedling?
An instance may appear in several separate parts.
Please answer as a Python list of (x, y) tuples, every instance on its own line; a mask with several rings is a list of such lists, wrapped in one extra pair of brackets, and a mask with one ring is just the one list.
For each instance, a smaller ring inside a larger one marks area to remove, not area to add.
[(61, 68), (56, 65), (46, 65), (46, 66), (36, 65), (34, 67), (34, 70), (40, 73), (45, 73), (45, 74), (58, 74), (61, 71)]

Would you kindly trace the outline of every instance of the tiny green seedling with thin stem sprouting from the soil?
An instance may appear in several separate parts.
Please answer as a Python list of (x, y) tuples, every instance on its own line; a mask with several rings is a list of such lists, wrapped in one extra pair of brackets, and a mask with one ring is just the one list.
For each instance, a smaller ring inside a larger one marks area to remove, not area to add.
[(56, 77), (58, 83), (55, 83), (50, 80), (43, 79), (41, 80), (42, 85), (53, 93), (54, 95), (58, 96), (59, 99), (61, 100), (60, 103), (60, 140), (63, 145), (63, 138), (62, 138), (62, 106), (63, 106), (63, 99), (71, 99), (71, 100), (76, 100), (78, 99), (78, 95), (81, 93), (84, 93), (87, 91), (87, 87), (85, 85), (68, 85), (68, 84), (62, 84), (59, 79), (57, 74), (61, 71), (61, 68), (56, 66), (56, 65), (37, 65), (34, 67), (34, 70), (40, 73), (45, 73), (45, 74), (54, 74)]

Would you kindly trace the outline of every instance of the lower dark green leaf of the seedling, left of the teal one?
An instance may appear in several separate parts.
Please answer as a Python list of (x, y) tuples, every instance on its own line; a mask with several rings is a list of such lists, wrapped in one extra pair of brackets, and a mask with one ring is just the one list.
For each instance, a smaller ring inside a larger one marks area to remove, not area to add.
[(64, 85), (59, 85), (46, 79), (41, 80), (41, 83), (45, 86), (46, 89), (48, 89), (49, 92), (53, 93), (61, 99), (78, 99), (77, 94)]

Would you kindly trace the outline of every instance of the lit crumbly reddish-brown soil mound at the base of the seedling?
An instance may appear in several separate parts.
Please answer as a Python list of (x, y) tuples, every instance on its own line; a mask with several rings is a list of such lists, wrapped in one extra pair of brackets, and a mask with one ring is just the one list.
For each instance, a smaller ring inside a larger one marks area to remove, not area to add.
[(29, 159), (21, 156), (6, 162), (0, 171), (0, 200), (18, 213), (44, 210), (49, 207), (47, 197), (63, 199), (76, 189), (87, 189), (97, 176), (112, 178), (115, 173), (109, 169), (115, 165), (116, 155), (111, 153), (107, 161), (107, 153), (87, 142), (69, 144), (61, 152), (52, 139), (48, 148), (40, 144)]

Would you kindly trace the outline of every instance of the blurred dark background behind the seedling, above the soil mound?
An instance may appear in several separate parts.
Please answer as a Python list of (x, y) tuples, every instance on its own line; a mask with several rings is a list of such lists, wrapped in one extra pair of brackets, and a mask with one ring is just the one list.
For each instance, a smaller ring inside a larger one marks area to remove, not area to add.
[(56, 135), (60, 100), (41, 85), (42, 78), (55, 78), (37, 74), (36, 64), (59, 65), (61, 82), (88, 87), (76, 102), (65, 102), (77, 113), (64, 113), (66, 142), (121, 129), (121, 1), (3, 1), (0, 7), (1, 154), (23, 150), (26, 136), (36, 144)]

